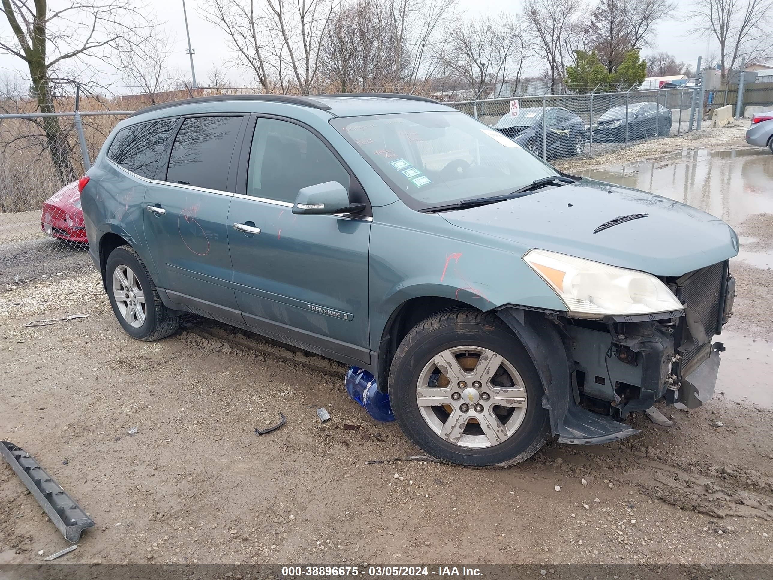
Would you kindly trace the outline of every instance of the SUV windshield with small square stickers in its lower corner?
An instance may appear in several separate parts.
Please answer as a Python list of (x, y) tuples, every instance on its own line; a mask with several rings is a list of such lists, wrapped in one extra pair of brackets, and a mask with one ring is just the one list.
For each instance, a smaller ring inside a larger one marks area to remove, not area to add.
[(459, 111), (330, 121), (414, 210), (512, 193), (560, 175), (505, 135)]

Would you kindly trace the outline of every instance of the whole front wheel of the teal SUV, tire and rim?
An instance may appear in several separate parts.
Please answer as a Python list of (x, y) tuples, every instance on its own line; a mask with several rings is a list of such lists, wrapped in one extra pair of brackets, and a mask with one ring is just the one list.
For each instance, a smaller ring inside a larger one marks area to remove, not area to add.
[(389, 393), (407, 437), (449, 462), (511, 465), (547, 440), (540, 377), (494, 313), (442, 312), (414, 326), (392, 361)]

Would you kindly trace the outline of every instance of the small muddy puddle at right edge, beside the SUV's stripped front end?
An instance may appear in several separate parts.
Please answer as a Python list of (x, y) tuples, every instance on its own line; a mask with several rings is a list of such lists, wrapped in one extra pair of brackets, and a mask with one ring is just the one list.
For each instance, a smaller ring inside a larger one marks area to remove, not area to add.
[(713, 341), (727, 347), (714, 396), (773, 408), (773, 341), (727, 330)]

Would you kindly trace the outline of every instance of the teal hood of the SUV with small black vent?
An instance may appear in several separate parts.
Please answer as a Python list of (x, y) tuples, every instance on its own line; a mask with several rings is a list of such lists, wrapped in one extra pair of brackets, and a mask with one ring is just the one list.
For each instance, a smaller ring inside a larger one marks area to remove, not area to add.
[(519, 244), (524, 253), (541, 248), (658, 276), (680, 276), (738, 253), (737, 235), (719, 218), (654, 193), (591, 179), (441, 216)]

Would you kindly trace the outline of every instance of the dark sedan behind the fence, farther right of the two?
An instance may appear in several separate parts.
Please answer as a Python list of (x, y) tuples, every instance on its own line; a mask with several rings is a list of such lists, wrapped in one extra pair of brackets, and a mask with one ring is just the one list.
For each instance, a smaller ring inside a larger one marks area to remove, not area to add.
[(593, 124), (594, 141), (625, 141), (625, 127), (628, 122), (628, 139), (668, 135), (671, 131), (671, 111), (662, 104), (635, 103), (612, 107)]

